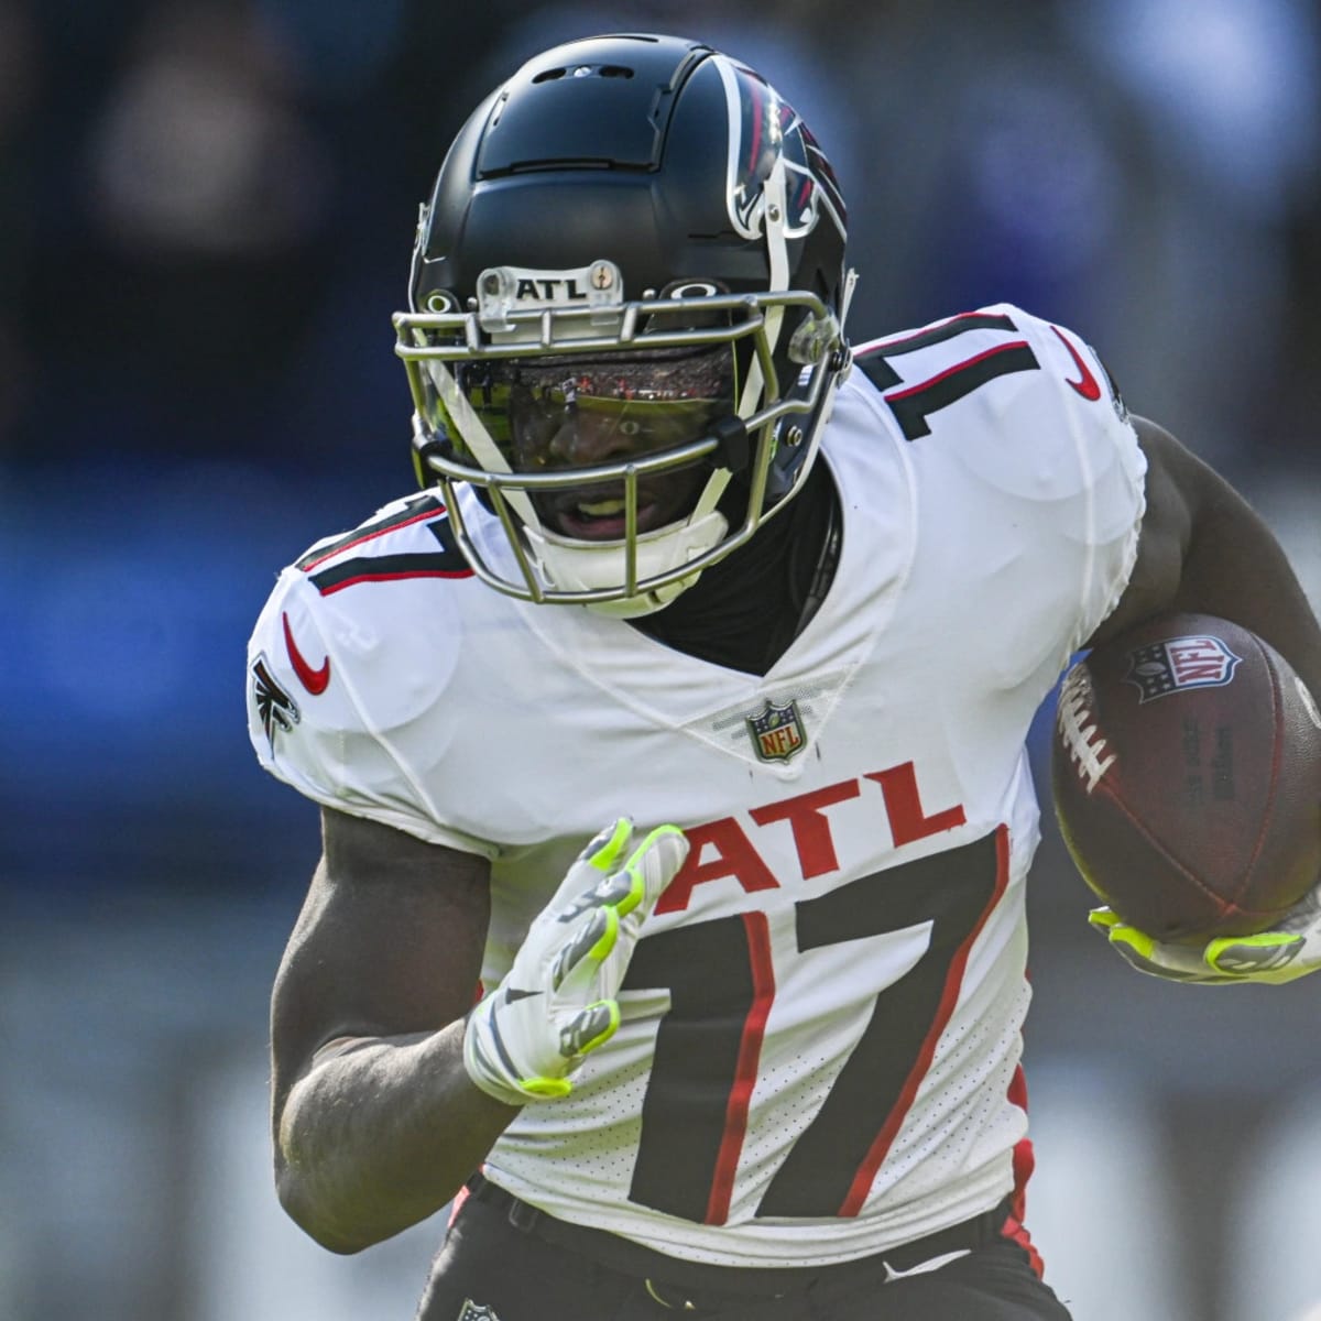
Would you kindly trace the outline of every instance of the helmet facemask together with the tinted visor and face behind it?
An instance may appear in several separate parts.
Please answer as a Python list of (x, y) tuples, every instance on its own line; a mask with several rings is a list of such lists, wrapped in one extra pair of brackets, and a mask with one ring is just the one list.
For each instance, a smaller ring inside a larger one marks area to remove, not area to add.
[[(808, 328), (799, 343), (816, 354), (791, 391), (781, 390), (768, 326), (786, 312)], [(605, 334), (583, 320), (577, 306), (524, 308), (491, 334), (480, 309), (396, 316), (415, 461), (420, 480), (444, 487), (458, 544), (483, 581), (523, 600), (645, 614), (769, 517), (782, 445), (802, 456), (795, 477), (806, 476), (838, 325), (801, 292), (638, 300)], [(723, 499), (736, 478), (744, 498)], [(457, 482), (501, 519), (517, 579), (462, 526)], [(731, 505), (742, 507), (733, 528)]]

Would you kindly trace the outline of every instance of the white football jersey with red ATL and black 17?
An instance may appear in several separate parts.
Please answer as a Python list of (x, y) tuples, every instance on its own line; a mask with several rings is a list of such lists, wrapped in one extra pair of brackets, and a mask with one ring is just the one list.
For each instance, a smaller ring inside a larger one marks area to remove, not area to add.
[(764, 678), (483, 587), (435, 494), (287, 569), (250, 655), (268, 770), (491, 860), (487, 987), (597, 830), (684, 828), (618, 1033), (486, 1172), (727, 1266), (878, 1252), (1011, 1190), (1024, 740), (1122, 593), (1144, 507), (1100, 363), (1007, 305), (859, 350), (822, 458), (839, 568)]

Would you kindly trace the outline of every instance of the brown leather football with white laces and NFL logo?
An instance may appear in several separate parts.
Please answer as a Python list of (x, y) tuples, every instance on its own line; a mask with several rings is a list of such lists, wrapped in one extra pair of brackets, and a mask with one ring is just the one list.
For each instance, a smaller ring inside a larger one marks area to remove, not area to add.
[(1321, 715), (1226, 620), (1149, 620), (1079, 660), (1052, 789), (1083, 880), (1160, 941), (1263, 931), (1321, 873)]

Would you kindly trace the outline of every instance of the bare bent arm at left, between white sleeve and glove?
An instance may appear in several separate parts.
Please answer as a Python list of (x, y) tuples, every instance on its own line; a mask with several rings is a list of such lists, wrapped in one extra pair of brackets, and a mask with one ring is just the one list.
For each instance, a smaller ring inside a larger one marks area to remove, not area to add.
[(431, 1215), (518, 1114), (469, 1079), (490, 864), (322, 811), (271, 1005), (280, 1202), (355, 1252)]

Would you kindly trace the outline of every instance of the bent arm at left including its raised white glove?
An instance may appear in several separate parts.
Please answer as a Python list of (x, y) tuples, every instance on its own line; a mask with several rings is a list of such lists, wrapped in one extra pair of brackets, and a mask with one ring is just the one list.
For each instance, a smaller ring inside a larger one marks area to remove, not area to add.
[(489, 864), (336, 811), (322, 838), (272, 1000), (276, 1182), (318, 1243), (354, 1252), (444, 1206), (522, 1104), (572, 1091), (688, 845), (660, 826), (634, 847), (613, 822), (473, 1007)]

